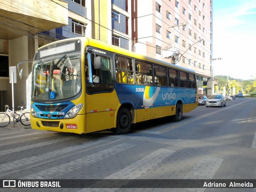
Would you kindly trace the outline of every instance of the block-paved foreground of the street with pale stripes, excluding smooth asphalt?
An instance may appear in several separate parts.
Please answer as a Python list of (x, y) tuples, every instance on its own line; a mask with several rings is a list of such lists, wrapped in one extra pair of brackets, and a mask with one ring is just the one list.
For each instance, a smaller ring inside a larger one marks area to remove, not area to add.
[[(156, 136), (157, 135), (157, 136)], [(63, 134), (0, 128), (1, 179), (256, 179), (256, 150), (154, 132)], [(0, 188), (7, 191), (256, 192), (255, 188)]]

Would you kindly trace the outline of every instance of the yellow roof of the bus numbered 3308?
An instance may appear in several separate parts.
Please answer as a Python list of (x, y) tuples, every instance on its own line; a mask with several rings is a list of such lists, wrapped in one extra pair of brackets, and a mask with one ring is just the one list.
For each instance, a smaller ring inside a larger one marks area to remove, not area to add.
[[(59, 40), (58, 42), (64, 42), (64, 41), (76, 40), (76, 39), (81, 40), (82, 44), (84, 44), (84, 45), (93, 46), (93, 47), (100, 48), (100, 49), (103, 49), (103, 50), (108, 50), (110, 52), (114, 52), (114, 53), (122, 54), (122, 55), (125, 55), (125, 56), (133, 57), (133, 58), (136, 58), (136, 59), (145, 60), (145, 61), (152, 62), (152, 63), (155, 63), (155, 64), (160, 64), (160, 65), (163, 65), (163, 66), (172, 67), (172, 68), (175, 68), (175, 69), (180, 69), (180, 70), (184, 70), (184, 71), (187, 71), (187, 72), (195, 73), (194, 70), (191, 70), (191, 69), (188, 69), (188, 68), (185, 68), (185, 67), (181, 67), (181, 66), (177, 66), (175, 64), (164, 62), (164, 61), (161, 61), (161, 60), (158, 60), (158, 59), (155, 59), (155, 58), (151, 58), (151, 57), (148, 57), (148, 56), (145, 56), (145, 55), (142, 55), (142, 54), (138, 54), (136, 52), (132, 52), (130, 50), (126, 50), (124, 48), (120, 48), (118, 46), (114, 46), (112, 44), (108, 44), (106, 42), (103, 42), (103, 41), (100, 41), (100, 40), (95, 40), (95, 39), (88, 38), (88, 37), (69, 38), (69, 39)], [(52, 42), (50, 44), (55, 44), (55, 43), (57, 43), (57, 42)], [(50, 44), (47, 44), (45, 46), (48, 46)], [(40, 48), (44, 48), (45, 46), (42, 46)]]

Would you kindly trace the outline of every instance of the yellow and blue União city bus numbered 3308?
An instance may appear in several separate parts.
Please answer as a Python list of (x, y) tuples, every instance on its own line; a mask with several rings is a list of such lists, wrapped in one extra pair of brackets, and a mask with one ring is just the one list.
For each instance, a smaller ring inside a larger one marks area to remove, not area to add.
[(86, 37), (38, 48), (32, 68), (33, 129), (77, 134), (174, 116), (198, 106), (196, 74)]

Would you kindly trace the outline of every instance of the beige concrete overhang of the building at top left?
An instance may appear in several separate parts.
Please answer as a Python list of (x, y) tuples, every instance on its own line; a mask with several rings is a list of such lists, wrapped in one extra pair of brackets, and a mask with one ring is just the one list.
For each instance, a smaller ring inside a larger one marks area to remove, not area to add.
[(0, 0), (0, 39), (11, 40), (68, 25), (62, 0)]

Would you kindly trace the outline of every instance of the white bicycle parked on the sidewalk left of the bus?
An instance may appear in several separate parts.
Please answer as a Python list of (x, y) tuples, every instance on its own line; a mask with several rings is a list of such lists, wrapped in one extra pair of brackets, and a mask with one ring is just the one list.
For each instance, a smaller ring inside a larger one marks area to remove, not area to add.
[[(23, 106), (18, 106), (20, 108), (20, 113), (12, 112), (9, 109), (8, 105), (4, 106), (5, 113), (0, 113), (0, 127), (6, 127), (10, 124), (11, 119), (10, 115), (15, 118), (16, 123), (20, 121), (22, 125), (29, 126), (30, 125), (30, 112), (22, 112), (24, 109)], [(10, 115), (9, 115), (10, 114)]]

